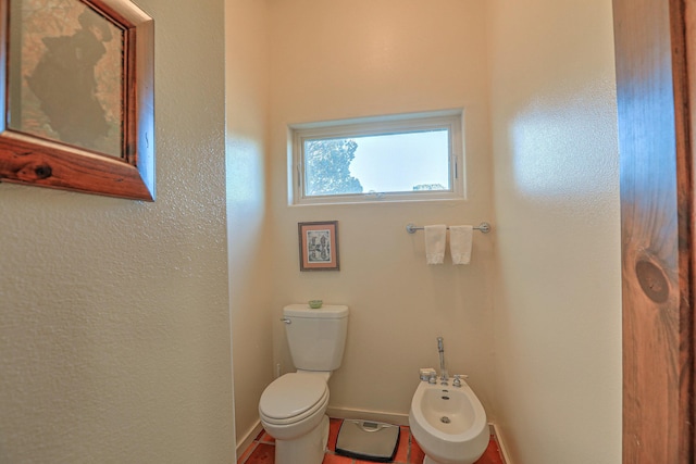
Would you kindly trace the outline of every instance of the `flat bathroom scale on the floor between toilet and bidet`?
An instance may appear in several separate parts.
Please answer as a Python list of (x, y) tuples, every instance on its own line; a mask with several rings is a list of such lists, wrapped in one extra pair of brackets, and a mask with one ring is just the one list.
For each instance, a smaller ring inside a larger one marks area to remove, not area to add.
[(336, 454), (388, 463), (399, 446), (399, 426), (372, 421), (344, 419), (336, 439)]

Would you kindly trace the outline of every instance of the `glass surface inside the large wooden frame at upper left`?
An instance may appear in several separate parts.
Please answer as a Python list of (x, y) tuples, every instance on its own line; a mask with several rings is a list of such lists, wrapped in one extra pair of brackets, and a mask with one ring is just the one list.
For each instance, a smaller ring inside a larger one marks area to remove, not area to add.
[(9, 127), (121, 158), (120, 27), (78, 0), (12, 0)]

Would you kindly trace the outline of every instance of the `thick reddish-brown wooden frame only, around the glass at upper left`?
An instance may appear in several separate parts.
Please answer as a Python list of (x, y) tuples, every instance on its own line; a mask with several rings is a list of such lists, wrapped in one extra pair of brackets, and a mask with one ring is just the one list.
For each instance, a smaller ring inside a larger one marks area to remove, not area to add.
[[(22, 15), (0, 1), (0, 181), (154, 201), (153, 20), (128, 0), (73, 0), (123, 32), (121, 154), (114, 156), (9, 125), (10, 41)], [(14, 21), (14, 23), (13, 23)], [(15, 64), (18, 65), (18, 64)]]

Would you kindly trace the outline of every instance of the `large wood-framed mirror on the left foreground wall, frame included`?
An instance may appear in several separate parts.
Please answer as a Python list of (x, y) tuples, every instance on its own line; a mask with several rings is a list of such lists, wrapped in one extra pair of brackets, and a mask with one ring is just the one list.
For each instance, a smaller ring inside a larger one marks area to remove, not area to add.
[(153, 201), (153, 32), (129, 0), (2, 0), (0, 181)]

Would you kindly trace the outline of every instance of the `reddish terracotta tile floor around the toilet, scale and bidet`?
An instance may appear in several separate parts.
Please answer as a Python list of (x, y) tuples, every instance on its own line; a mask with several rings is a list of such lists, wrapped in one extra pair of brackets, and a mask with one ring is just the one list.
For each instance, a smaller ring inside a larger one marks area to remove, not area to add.
[[(369, 461), (360, 461), (336, 454), (336, 437), (340, 428), (341, 419), (332, 418), (330, 422), (328, 450), (323, 464), (370, 464)], [(394, 456), (394, 463), (422, 464), (423, 451), (418, 446), (409, 427), (401, 426), (399, 435), (399, 448)], [(265, 431), (261, 431), (253, 443), (241, 454), (237, 464), (273, 464), (275, 461), (275, 440)], [(297, 463), (302, 464), (302, 463)], [(498, 450), (498, 443), (490, 437), (486, 452), (476, 464), (504, 464)]]

